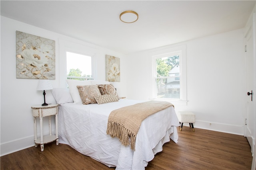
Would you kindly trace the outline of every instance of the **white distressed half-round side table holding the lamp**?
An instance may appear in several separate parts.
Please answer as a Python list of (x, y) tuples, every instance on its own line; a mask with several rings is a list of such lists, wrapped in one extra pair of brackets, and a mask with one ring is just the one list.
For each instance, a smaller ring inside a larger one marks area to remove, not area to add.
[[(47, 106), (36, 105), (32, 106), (32, 115), (34, 117), (34, 136), (35, 136), (35, 147), (38, 144), (41, 146), (41, 151), (44, 151), (44, 144), (56, 141), (56, 145), (59, 145), (58, 137), (58, 104), (49, 104)], [(55, 127), (56, 135), (52, 135), (52, 122), (51, 116), (55, 115)], [(43, 133), (43, 117), (49, 116), (49, 128), (50, 134), (44, 136)], [(36, 117), (40, 118), (40, 138), (37, 139), (37, 129), (36, 129)]]

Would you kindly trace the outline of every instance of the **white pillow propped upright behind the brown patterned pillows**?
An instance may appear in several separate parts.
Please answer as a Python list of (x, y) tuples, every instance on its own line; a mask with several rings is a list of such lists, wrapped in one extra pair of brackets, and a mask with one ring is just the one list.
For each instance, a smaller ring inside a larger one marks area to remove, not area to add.
[(91, 80), (66, 80), (68, 83), (68, 88), (69, 92), (72, 96), (72, 99), (74, 100), (75, 104), (80, 104), (82, 103), (80, 94), (78, 92), (78, 89), (76, 86), (86, 86), (86, 85), (91, 85)]

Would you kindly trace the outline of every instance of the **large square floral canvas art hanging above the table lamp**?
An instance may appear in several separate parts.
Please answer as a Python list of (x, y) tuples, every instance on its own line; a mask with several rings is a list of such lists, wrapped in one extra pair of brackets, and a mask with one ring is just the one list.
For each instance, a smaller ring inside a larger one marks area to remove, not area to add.
[(16, 31), (16, 78), (55, 79), (55, 41)]

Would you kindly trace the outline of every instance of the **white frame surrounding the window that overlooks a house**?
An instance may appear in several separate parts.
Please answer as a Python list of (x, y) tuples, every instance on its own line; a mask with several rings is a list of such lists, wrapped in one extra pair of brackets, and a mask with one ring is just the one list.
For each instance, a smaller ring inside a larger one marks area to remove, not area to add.
[[(169, 57), (179, 55), (180, 66), (180, 99), (160, 99), (157, 98), (156, 87), (156, 59), (161, 57)], [(171, 102), (172, 104), (187, 105), (187, 77), (186, 77), (186, 45), (179, 45), (175, 47), (166, 47), (150, 53), (152, 57), (152, 98), (154, 100), (163, 100)]]

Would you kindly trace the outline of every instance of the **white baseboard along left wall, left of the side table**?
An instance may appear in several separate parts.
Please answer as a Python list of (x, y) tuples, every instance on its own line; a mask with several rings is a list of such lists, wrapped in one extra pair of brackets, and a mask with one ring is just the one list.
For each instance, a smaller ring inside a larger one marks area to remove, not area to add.
[(9, 141), (6, 143), (1, 143), (0, 156), (17, 152), (19, 150), (26, 149), (32, 146), (35, 146), (34, 135), (25, 137), (25, 138), (16, 139), (14, 141)]

